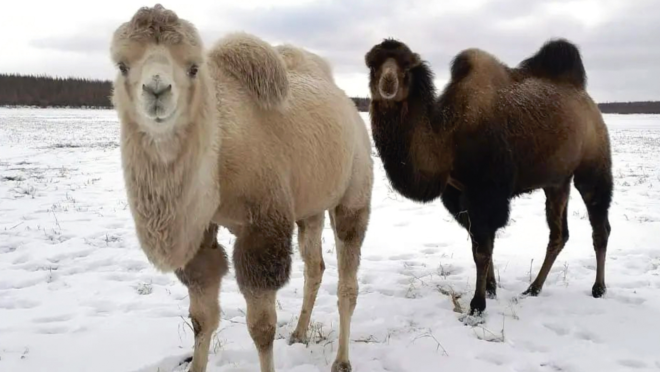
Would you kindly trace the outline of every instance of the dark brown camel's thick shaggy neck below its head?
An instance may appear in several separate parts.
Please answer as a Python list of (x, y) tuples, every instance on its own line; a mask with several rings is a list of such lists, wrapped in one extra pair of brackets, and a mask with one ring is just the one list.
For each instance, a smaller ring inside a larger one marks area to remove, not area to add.
[(453, 141), (441, 112), (425, 64), (411, 69), (406, 100), (372, 101), (372, 133), (383, 167), (393, 188), (411, 200), (430, 202), (447, 184)]

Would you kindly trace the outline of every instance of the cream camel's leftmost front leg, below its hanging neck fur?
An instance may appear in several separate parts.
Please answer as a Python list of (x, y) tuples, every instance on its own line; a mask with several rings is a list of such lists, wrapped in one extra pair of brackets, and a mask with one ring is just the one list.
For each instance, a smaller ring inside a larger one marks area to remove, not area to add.
[(176, 276), (188, 288), (189, 315), (195, 334), (195, 348), (190, 372), (205, 372), (211, 336), (220, 322), (218, 291), (228, 270), (227, 255), (218, 244), (218, 225), (211, 224), (204, 233), (199, 251)]

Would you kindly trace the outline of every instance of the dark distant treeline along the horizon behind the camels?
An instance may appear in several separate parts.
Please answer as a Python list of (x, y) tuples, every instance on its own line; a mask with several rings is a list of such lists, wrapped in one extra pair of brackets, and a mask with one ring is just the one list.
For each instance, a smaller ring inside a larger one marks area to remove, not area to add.
[[(0, 106), (111, 108), (110, 81), (47, 75), (0, 74)], [(358, 110), (369, 110), (369, 98), (352, 97)], [(605, 102), (605, 114), (660, 114), (660, 101)]]

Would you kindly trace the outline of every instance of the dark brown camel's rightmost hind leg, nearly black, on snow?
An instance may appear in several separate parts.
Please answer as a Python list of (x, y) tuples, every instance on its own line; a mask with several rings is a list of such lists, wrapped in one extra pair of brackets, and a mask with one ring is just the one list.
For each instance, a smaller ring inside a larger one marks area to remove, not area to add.
[(605, 255), (611, 226), (609, 207), (612, 202), (612, 173), (607, 167), (586, 168), (576, 171), (575, 185), (589, 213), (591, 237), (596, 251), (596, 280), (591, 288), (593, 297), (605, 294)]

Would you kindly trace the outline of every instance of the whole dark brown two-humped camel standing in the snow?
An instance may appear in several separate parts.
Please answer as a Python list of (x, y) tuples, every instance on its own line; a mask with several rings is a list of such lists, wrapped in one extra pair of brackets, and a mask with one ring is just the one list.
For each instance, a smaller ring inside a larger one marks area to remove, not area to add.
[(477, 266), (471, 314), (486, 309), (486, 293), (495, 297), (493, 242), (508, 222), (512, 198), (543, 188), (550, 239), (543, 266), (523, 295), (539, 294), (568, 241), (572, 178), (593, 229), (593, 297), (605, 293), (609, 134), (585, 91), (574, 44), (550, 40), (517, 67), (479, 49), (464, 50), (454, 57), (440, 96), (428, 63), (402, 42), (384, 40), (365, 61), (372, 135), (393, 188), (416, 202), (440, 196), (469, 231)]

